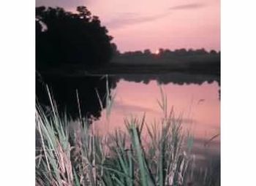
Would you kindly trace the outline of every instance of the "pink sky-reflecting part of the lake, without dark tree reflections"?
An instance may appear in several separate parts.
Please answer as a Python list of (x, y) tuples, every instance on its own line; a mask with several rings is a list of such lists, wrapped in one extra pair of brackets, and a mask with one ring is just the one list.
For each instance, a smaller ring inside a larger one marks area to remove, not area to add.
[[(189, 131), (195, 138), (193, 152), (197, 162), (219, 159), (219, 136), (207, 143), (220, 133), (219, 84), (215, 81), (200, 85), (169, 82), (161, 86), (167, 96), (169, 110), (173, 106), (175, 115), (182, 115), (183, 130)], [(100, 134), (111, 133), (116, 129), (125, 131), (125, 117), (141, 118), (146, 112), (148, 124), (163, 117), (157, 103), (157, 99), (161, 99), (157, 80), (149, 80), (145, 84), (120, 79), (111, 93), (116, 93), (116, 97), (109, 120), (106, 119), (104, 109), (99, 120), (94, 122), (96, 131)]]

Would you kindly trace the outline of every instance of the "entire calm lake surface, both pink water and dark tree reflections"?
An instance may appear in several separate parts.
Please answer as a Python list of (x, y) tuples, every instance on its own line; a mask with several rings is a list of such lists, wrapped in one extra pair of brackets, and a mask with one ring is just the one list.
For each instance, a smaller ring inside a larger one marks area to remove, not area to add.
[[(125, 117), (142, 117), (145, 112), (148, 124), (163, 117), (157, 104), (157, 99), (161, 99), (160, 84), (167, 96), (168, 109), (173, 106), (176, 116), (182, 115), (184, 132), (194, 135), (193, 152), (197, 162), (214, 160), (219, 163), (219, 136), (206, 145), (209, 139), (220, 133), (219, 77), (178, 73), (109, 76), (108, 88), (116, 97), (108, 121), (95, 91), (98, 91), (105, 108), (105, 78), (46, 77), (44, 81), (52, 90), (59, 109), (67, 111), (73, 119), (78, 117), (78, 90), (81, 113), (97, 118), (93, 125), (99, 134), (124, 130)], [(37, 97), (41, 104), (48, 104), (47, 94), (38, 82)]]

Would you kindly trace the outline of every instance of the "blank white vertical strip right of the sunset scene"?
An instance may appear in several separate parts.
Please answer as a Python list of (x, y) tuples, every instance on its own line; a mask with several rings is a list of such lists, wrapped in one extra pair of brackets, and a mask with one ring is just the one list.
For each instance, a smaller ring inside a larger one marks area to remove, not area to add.
[(255, 185), (256, 29), (254, 1), (221, 4), (222, 185)]

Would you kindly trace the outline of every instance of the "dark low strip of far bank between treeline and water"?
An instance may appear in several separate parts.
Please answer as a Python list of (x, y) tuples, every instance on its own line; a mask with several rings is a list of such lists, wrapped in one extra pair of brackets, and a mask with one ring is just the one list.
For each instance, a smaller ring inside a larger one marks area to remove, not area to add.
[(220, 77), (220, 66), (194, 65), (194, 66), (177, 66), (177, 65), (145, 65), (145, 64), (117, 64), (108, 63), (105, 66), (94, 69), (86, 69), (82, 65), (65, 65), (52, 69), (40, 71), (42, 75), (56, 75), (56, 76), (88, 76), (88, 75), (102, 75), (102, 74), (170, 74), (170, 73), (184, 73), (184, 74), (205, 74)]

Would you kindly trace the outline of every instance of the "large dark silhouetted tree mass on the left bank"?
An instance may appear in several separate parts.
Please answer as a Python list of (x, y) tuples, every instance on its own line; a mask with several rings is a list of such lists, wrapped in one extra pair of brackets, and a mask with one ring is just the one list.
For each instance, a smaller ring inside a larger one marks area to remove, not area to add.
[(110, 61), (113, 44), (108, 30), (86, 7), (78, 7), (77, 11), (36, 8), (37, 69), (63, 63), (91, 67)]

